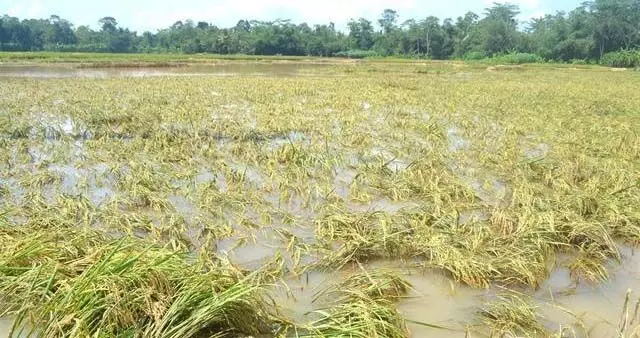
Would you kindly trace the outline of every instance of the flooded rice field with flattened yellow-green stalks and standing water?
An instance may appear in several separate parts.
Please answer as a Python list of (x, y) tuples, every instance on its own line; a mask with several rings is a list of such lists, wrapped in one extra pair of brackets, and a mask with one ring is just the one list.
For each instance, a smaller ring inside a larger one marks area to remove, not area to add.
[(639, 75), (0, 65), (0, 334), (640, 337)]

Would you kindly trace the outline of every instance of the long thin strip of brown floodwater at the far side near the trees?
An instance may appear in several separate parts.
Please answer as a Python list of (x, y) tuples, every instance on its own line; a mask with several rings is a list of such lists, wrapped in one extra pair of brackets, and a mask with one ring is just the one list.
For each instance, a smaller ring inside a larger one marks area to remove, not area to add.
[(22, 78), (114, 78), (179, 76), (304, 76), (329, 67), (329, 64), (304, 63), (226, 63), (185, 65), (182, 67), (105, 67), (84, 68), (72, 64), (21, 65), (0, 64), (1, 77)]

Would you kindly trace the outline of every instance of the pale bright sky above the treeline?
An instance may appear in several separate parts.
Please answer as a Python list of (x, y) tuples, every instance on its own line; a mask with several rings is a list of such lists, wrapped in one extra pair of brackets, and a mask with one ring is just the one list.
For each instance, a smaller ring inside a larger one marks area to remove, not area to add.
[[(121, 26), (155, 31), (178, 20), (207, 21), (220, 27), (235, 25), (240, 19), (292, 19), (310, 24), (334, 22), (346, 27), (350, 18), (376, 20), (385, 8), (409, 18), (434, 15), (458, 17), (471, 10), (481, 13), (493, 0), (0, 0), (0, 15), (45, 18), (59, 15), (76, 25), (97, 27), (103, 16), (115, 17)], [(582, 0), (511, 0), (521, 8), (520, 20), (544, 13), (571, 10)]]

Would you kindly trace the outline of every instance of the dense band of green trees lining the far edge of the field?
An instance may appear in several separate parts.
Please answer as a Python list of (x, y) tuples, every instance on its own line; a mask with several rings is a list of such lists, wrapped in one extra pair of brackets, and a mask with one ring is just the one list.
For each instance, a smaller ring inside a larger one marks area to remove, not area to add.
[[(529, 53), (545, 60), (600, 60), (609, 52), (640, 47), (640, 0), (595, 0), (576, 9), (518, 22), (519, 8), (497, 4), (457, 19), (429, 16), (398, 21), (387, 9), (377, 22), (352, 19), (347, 30), (333, 23), (310, 26), (289, 20), (240, 20), (220, 28), (208, 22), (178, 21), (158, 32), (139, 34), (113, 17), (99, 29), (48, 19), (0, 17), (0, 50), (139, 53), (216, 53), (316, 56), (410, 56), (476, 59)], [(625, 52), (629, 53), (629, 52)], [(635, 53), (636, 52), (630, 52)]]

